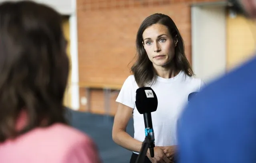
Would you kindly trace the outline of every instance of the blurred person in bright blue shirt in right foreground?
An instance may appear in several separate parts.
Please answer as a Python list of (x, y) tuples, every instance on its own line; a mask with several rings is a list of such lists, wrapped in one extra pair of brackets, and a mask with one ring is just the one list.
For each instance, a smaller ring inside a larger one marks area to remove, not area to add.
[[(256, 0), (232, 3), (256, 18)], [(253, 57), (189, 103), (177, 127), (179, 163), (256, 163), (255, 71)]]

